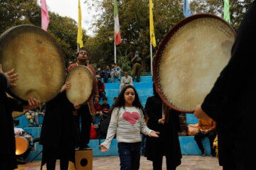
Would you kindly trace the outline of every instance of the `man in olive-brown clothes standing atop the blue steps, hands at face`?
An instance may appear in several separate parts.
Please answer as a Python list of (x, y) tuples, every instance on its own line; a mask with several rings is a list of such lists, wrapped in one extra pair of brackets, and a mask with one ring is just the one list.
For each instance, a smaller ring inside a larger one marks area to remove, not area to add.
[(132, 58), (132, 80), (134, 81), (137, 77), (137, 82), (139, 82), (140, 74), (142, 72), (142, 58), (139, 57), (139, 52), (135, 52)]

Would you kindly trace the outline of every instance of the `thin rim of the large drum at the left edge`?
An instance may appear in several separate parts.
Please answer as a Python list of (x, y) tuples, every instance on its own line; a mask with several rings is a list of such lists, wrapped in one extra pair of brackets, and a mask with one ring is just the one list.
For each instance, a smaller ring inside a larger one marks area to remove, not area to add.
[[(0, 35), (0, 46), (1, 46), (1, 41), (2, 41), (9, 33), (11, 33), (12, 31), (14, 31), (15, 29), (23, 28), (23, 27), (28, 27), (28, 28), (31, 27), (31, 28), (36, 28), (36, 29), (38, 29), (38, 30), (43, 30), (43, 29), (41, 29), (40, 27), (34, 26), (34, 25), (32, 25), (32, 24), (21, 24), (21, 25), (18, 25), (18, 26), (11, 27), (11, 28), (9, 28), (8, 30), (4, 31), (4, 33), (2, 33), (2, 34)], [(46, 31), (44, 31), (44, 32), (46, 32)], [(44, 33), (44, 32), (42, 31), (41, 33), (43, 33), (44, 35), (47, 35), (48, 38), (50, 38), (50, 41), (52, 42), (53, 46), (56, 47), (56, 49), (58, 50), (58, 53), (59, 53), (60, 56), (61, 56), (61, 59), (63, 60), (62, 62), (64, 63), (64, 64), (63, 64), (63, 82), (64, 82), (64, 81), (65, 81), (65, 57), (63, 56), (63, 51), (61, 50), (60, 45), (58, 45), (58, 43), (56, 42), (56, 40), (55, 40), (48, 32), (46, 32), (46, 33)], [(1, 47), (0, 47), (0, 48), (1, 48)], [(1, 61), (1, 56), (0, 56), (0, 61)], [(3, 69), (4, 69), (4, 68), (3, 68)], [(61, 89), (61, 86), (60, 86), (60, 89)], [(15, 95), (15, 94), (10, 90), (10, 88), (8, 88), (8, 89), (6, 90), (6, 92), (7, 92), (10, 96), (16, 98), (16, 99), (19, 100), (19, 101), (23, 101), (23, 102), (25, 102), (25, 103), (28, 102), (28, 101), (25, 101), (25, 100), (23, 100), (22, 98), (18, 97), (17, 95)], [(58, 93), (59, 93), (59, 91), (56, 92), (56, 95), (55, 95), (55, 96), (57, 96)], [(55, 96), (53, 96), (53, 98), (55, 98)], [(48, 101), (52, 100), (53, 98), (50, 98)], [(41, 102), (44, 103), (44, 102), (47, 102), (47, 101), (41, 101)]]

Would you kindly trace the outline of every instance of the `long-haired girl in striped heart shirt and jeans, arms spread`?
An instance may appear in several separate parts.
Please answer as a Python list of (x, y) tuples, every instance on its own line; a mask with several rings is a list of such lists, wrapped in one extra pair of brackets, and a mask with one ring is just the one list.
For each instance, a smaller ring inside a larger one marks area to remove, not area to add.
[(117, 134), (121, 170), (139, 169), (142, 142), (140, 132), (150, 137), (159, 137), (159, 132), (146, 127), (142, 108), (137, 91), (134, 86), (129, 85), (122, 89), (110, 110), (111, 120), (107, 138), (100, 147), (102, 152), (107, 152), (114, 135)]

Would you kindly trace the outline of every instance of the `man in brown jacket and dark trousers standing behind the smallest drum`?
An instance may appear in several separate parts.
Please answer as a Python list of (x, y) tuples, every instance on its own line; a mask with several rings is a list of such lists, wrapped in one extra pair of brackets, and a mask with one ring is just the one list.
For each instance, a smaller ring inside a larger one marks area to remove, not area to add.
[[(98, 89), (97, 89), (97, 82), (95, 78), (95, 69), (90, 64), (87, 64), (87, 52), (83, 49), (80, 49), (80, 51), (77, 54), (77, 60), (78, 62), (71, 64), (68, 67), (68, 73), (71, 71), (71, 69), (73, 69), (78, 65), (87, 66), (94, 74), (95, 88), (94, 88), (94, 91), (92, 91), (92, 94), (99, 95)], [(95, 109), (93, 106), (92, 96), (89, 98), (88, 103), (86, 103), (85, 105), (82, 105), (77, 111), (74, 112), (76, 128), (78, 132), (80, 132), (80, 140), (78, 143), (78, 147), (80, 147), (80, 149), (92, 149), (91, 147), (88, 146), (88, 143), (90, 142), (90, 128), (92, 123), (92, 115), (94, 114), (95, 114)], [(81, 117), (81, 130), (80, 130), (80, 117)]]

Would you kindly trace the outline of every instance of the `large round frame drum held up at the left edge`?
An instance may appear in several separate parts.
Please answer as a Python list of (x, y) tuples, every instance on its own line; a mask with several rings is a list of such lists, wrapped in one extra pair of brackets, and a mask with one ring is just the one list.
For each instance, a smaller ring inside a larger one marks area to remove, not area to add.
[(60, 47), (46, 31), (21, 25), (0, 37), (0, 63), (4, 72), (15, 69), (16, 87), (9, 94), (23, 101), (29, 97), (41, 103), (58, 95), (65, 81), (65, 60)]

